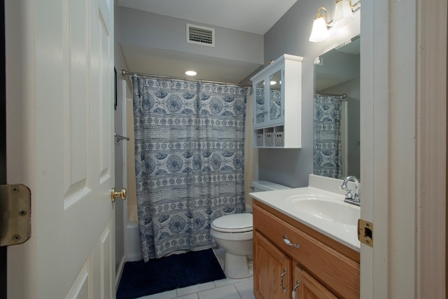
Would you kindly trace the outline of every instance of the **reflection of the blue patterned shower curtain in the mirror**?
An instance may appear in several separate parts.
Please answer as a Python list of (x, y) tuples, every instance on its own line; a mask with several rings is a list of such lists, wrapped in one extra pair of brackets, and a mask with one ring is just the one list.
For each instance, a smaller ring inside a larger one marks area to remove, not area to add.
[(314, 97), (314, 174), (342, 177), (342, 97)]

